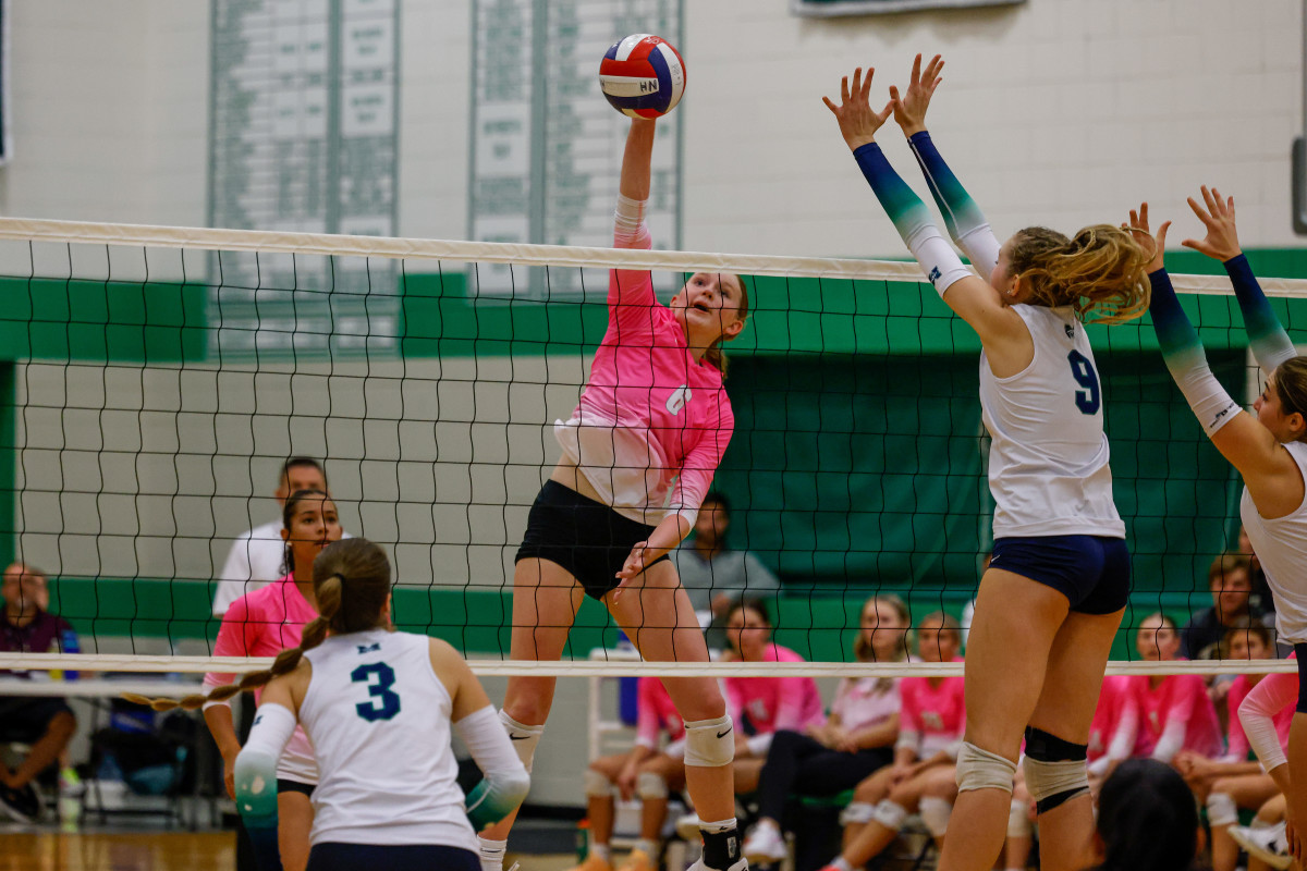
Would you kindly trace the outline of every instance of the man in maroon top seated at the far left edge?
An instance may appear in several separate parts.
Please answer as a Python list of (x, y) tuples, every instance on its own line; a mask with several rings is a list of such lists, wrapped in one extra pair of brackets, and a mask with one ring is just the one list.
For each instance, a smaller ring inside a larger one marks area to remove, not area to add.
[[(72, 626), (50, 614), (50, 589), (46, 573), (26, 563), (13, 563), (0, 582), (4, 619), (0, 620), (0, 652), (63, 653), (74, 648), (77, 636)], [(27, 673), (9, 676), (30, 678)], [(41, 798), (35, 780), (64, 755), (77, 730), (72, 709), (63, 699), (51, 696), (0, 696), (0, 739), (30, 744), (27, 757), (17, 769), (0, 764), (0, 812), (18, 823), (31, 823), (41, 815)], [(76, 781), (76, 774), (63, 767), (63, 780)]]

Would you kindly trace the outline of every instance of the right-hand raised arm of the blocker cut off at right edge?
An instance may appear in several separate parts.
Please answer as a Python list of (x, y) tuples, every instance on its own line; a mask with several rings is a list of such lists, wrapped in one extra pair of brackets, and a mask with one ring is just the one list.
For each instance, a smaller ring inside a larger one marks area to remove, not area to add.
[(1266, 372), (1274, 371), (1285, 360), (1298, 356), (1298, 350), (1289, 340), (1289, 333), (1281, 326), (1270, 302), (1261, 291), (1248, 259), (1239, 247), (1239, 234), (1235, 227), (1234, 197), (1225, 198), (1216, 188), (1202, 185), (1202, 201), (1206, 208), (1189, 197), (1189, 208), (1206, 227), (1202, 239), (1185, 239), (1180, 244), (1193, 248), (1206, 256), (1219, 260), (1234, 285), (1234, 295), (1243, 312), (1243, 325), (1248, 330), (1248, 343), (1252, 355)]

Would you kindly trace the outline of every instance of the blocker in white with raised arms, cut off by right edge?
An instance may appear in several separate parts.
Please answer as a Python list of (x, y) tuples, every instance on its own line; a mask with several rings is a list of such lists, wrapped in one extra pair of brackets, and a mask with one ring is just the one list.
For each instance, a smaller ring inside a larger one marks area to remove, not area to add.
[[(1170, 222), (1153, 239), (1145, 202), (1131, 212), (1131, 229), (1157, 251), (1149, 264), (1149, 312), (1166, 368), (1212, 444), (1243, 478), (1239, 516), (1276, 598), (1276, 629), (1281, 640), (1294, 645), (1300, 678), (1307, 658), (1307, 356), (1298, 355), (1243, 256), (1234, 197), (1204, 187), (1202, 204), (1189, 197), (1189, 208), (1206, 236), (1182, 244), (1225, 265), (1252, 354), (1266, 373), (1266, 387), (1252, 404), (1255, 414), (1240, 409), (1212, 375), (1199, 333), (1163, 268)], [(1307, 825), (1307, 692), (1302, 689), (1295, 712), (1289, 727), (1289, 763), (1269, 773), (1289, 799), (1289, 847), (1302, 862), (1307, 858), (1307, 832), (1302, 828)]]

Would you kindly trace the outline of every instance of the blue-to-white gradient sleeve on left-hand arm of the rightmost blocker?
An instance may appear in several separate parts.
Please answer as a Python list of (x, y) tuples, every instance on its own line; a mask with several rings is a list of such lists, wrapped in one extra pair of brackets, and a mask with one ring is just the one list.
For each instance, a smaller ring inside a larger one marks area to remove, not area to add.
[(1149, 273), (1149, 282), (1153, 285), (1149, 313), (1153, 316), (1153, 330), (1162, 349), (1162, 359), (1204, 432), (1212, 437), (1239, 414), (1239, 405), (1212, 375), (1199, 332), (1180, 307), (1171, 277), (1165, 269), (1158, 269)]

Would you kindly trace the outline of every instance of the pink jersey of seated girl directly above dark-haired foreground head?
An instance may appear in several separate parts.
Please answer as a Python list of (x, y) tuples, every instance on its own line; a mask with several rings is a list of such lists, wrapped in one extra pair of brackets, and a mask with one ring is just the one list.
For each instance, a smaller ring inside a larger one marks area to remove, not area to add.
[(1182, 750), (1208, 759), (1221, 755), (1221, 723), (1201, 675), (1167, 675), (1157, 688), (1148, 675), (1136, 675), (1131, 689), (1128, 704), (1138, 717), (1136, 756), (1171, 761)]

